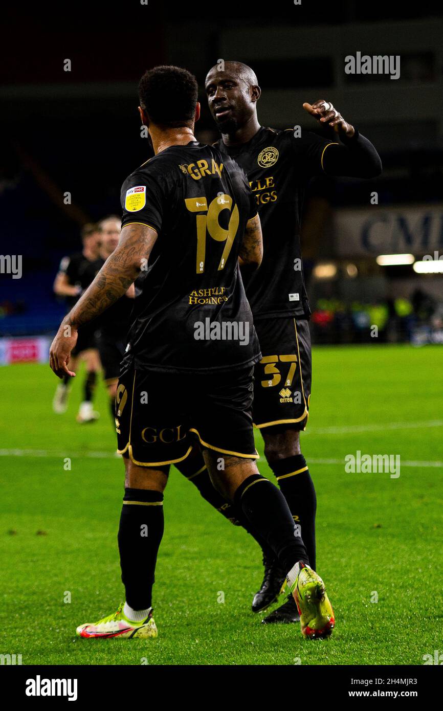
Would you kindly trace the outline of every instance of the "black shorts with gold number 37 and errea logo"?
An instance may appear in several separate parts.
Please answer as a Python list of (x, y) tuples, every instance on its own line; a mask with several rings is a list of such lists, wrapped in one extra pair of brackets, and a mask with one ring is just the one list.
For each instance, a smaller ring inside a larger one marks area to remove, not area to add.
[(311, 396), (311, 337), (306, 319), (259, 319), (262, 360), (255, 364), (255, 427), (305, 429)]

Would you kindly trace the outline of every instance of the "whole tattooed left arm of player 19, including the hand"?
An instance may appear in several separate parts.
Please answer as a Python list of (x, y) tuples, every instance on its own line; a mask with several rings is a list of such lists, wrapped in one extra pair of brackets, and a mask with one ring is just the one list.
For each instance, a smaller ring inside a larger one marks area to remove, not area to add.
[(107, 258), (90, 287), (65, 316), (50, 346), (50, 368), (59, 378), (75, 375), (68, 370), (68, 363), (77, 341), (78, 327), (100, 316), (127, 292), (139, 276), (144, 260), (148, 260), (156, 238), (156, 231), (147, 225), (127, 225), (122, 229), (116, 249)]

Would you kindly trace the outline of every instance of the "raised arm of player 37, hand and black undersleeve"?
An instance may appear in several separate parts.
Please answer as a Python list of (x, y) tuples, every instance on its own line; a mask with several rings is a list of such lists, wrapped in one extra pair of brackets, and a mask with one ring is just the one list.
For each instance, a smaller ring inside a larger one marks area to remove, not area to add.
[(321, 169), (331, 176), (349, 178), (376, 178), (382, 171), (380, 156), (373, 144), (358, 133), (341, 113), (324, 99), (314, 104), (304, 103), (303, 108), (324, 126), (329, 126), (341, 139), (341, 144), (332, 142), (324, 150)]

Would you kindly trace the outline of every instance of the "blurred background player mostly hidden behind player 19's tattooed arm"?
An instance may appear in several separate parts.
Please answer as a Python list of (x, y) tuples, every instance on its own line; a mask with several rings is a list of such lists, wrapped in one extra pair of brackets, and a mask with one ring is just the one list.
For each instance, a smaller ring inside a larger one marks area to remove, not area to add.
[[(101, 246), (100, 260), (97, 261), (97, 273), (107, 258), (112, 255), (119, 243), (122, 230), (122, 220), (117, 215), (110, 215), (100, 220)], [(95, 277), (95, 274), (92, 278)], [(91, 279), (92, 282), (92, 279)], [(99, 319), (97, 319), (97, 348), (102, 362), (103, 378), (110, 398), (112, 424), (115, 419), (115, 395), (120, 373), (120, 361), (127, 346), (132, 307), (134, 306), (134, 284), (131, 284), (126, 294), (115, 304), (112, 304)]]

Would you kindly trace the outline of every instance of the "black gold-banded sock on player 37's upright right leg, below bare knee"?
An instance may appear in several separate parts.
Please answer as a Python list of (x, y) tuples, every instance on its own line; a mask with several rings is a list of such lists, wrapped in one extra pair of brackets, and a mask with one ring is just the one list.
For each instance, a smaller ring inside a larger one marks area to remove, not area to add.
[(301, 527), (311, 568), (316, 566), (315, 515), (317, 508), (314, 482), (303, 454), (277, 459), (271, 465), (280, 490), (287, 501), (294, 523)]

